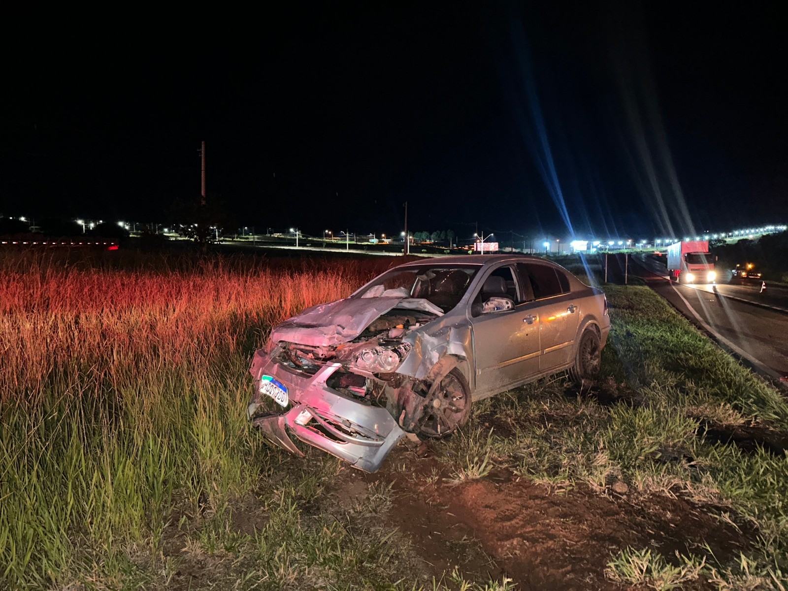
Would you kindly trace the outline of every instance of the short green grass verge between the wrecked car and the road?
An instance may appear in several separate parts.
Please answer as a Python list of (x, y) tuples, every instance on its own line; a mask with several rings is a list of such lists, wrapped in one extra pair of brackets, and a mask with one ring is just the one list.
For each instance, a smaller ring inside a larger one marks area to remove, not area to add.
[(658, 589), (688, 581), (785, 589), (785, 398), (649, 288), (605, 289), (613, 325), (600, 382), (578, 394), (564, 380), (541, 381), (478, 405), (459, 462), (450, 460), (455, 480), (504, 464), (556, 492), (582, 485), (616, 496), (623, 483), (634, 504), (681, 496), (749, 530), (750, 552), (719, 561), (703, 540), (681, 558), (623, 548), (608, 578)]

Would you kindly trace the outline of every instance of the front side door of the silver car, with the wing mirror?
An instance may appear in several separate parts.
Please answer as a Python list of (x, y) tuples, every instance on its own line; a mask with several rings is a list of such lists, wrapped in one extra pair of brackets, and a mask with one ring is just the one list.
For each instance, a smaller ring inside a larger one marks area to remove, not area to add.
[[(468, 318), (474, 335), (476, 392), (501, 392), (539, 372), (539, 323), (530, 310), (526, 287), (514, 265), (492, 270), (471, 299)], [(481, 313), (486, 299), (503, 296), (514, 302), (511, 310)]]

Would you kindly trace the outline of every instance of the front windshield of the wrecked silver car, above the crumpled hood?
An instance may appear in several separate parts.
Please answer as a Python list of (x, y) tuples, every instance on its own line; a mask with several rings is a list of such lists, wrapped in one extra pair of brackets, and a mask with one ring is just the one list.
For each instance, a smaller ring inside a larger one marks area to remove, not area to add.
[(481, 265), (419, 265), (391, 269), (357, 297), (424, 298), (444, 312), (455, 307)]

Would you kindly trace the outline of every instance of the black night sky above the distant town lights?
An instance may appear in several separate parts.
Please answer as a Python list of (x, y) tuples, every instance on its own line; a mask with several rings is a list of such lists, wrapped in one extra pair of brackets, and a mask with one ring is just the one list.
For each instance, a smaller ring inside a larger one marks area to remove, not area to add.
[(6, 37), (0, 213), (163, 221), (205, 139), (258, 231), (399, 232), (406, 200), (460, 236), (788, 220), (776, 2), (288, 6)]

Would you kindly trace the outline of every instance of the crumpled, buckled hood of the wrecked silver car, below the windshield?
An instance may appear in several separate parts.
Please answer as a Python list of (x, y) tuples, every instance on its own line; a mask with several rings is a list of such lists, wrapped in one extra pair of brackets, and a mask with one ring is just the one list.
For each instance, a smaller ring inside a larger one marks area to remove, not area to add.
[(333, 347), (347, 343), (388, 310), (424, 310), (438, 316), (443, 310), (422, 298), (345, 298), (321, 303), (289, 318), (271, 332), (271, 342)]

